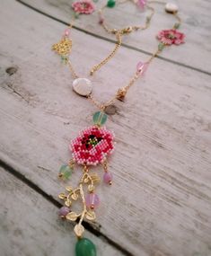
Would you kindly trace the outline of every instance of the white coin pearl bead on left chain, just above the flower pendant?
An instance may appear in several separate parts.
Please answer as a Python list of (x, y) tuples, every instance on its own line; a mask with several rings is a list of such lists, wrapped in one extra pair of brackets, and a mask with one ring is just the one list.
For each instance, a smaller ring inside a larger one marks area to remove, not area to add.
[(87, 78), (76, 78), (73, 82), (73, 90), (81, 96), (92, 93), (92, 82)]

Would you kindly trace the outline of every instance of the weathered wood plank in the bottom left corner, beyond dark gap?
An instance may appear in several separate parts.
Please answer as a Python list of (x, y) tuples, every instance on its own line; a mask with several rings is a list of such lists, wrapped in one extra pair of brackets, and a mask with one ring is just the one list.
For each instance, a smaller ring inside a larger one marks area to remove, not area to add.
[[(75, 255), (73, 225), (57, 217), (57, 207), (0, 168), (0, 242), (2, 256)], [(98, 255), (122, 255), (90, 234)]]

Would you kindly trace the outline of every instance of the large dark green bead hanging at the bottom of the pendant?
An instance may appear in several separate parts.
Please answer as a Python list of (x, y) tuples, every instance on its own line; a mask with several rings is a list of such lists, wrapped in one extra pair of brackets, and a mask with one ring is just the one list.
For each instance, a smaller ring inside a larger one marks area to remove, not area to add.
[(97, 256), (96, 247), (91, 240), (82, 238), (75, 245), (76, 256)]

